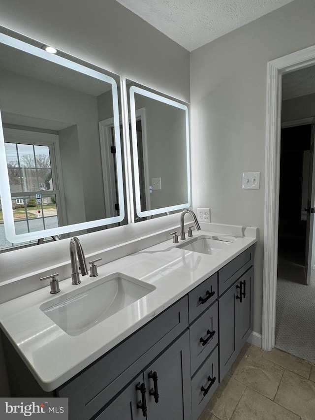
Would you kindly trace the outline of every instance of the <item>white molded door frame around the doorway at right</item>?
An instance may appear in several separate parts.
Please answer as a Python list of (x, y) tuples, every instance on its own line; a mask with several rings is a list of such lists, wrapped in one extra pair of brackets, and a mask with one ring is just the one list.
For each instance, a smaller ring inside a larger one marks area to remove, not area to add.
[(267, 63), (262, 348), (275, 346), (282, 75), (315, 64), (315, 46)]

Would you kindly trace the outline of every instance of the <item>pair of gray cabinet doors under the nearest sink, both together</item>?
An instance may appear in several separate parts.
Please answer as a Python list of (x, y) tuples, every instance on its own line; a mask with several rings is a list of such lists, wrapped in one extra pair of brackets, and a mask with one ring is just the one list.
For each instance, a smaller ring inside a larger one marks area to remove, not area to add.
[(95, 420), (191, 419), (189, 333), (158, 356)]

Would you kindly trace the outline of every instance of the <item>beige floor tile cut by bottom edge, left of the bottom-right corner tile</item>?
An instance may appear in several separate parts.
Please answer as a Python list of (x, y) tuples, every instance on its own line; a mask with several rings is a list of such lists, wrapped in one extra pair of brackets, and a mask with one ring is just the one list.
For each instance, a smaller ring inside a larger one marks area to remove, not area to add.
[(299, 416), (246, 388), (231, 420), (300, 420)]

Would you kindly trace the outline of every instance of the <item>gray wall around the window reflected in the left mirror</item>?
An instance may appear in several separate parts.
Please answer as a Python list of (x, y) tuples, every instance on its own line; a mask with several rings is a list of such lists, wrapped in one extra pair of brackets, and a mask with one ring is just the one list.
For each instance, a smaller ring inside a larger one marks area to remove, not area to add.
[(98, 176), (101, 158), (97, 97), (3, 69), (0, 90), (2, 112), (27, 116), (30, 121), (33, 117), (46, 121), (46, 129), (51, 129), (54, 122), (76, 126), (59, 133), (67, 222), (102, 219), (105, 203), (102, 178)]

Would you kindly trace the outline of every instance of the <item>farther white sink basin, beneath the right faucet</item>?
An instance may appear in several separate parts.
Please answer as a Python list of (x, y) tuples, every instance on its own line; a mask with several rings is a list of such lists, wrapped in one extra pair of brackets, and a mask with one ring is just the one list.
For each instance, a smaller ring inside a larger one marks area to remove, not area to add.
[(178, 245), (177, 248), (182, 248), (187, 251), (199, 252), (201, 254), (214, 255), (220, 252), (222, 249), (227, 248), (234, 242), (233, 238), (214, 238), (210, 236), (201, 235), (196, 238), (192, 238), (189, 241)]

